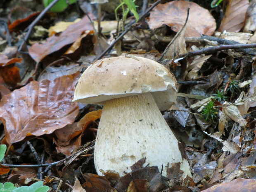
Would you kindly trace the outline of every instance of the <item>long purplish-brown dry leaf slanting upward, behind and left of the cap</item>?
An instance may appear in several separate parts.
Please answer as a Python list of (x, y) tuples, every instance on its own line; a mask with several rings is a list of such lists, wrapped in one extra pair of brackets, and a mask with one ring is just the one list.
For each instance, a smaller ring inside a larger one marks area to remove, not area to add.
[[(89, 16), (91, 19), (95, 19), (93, 14), (89, 13)], [(51, 36), (50, 38), (47, 38), (47, 41), (44, 44), (35, 43), (32, 45), (29, 48), (29, 55), (36, 62), (40, 62), (47, 55), (59, 51), (66, 45), (76, 42), (76, 40), (87, 30), (93, 31), (93, 27), (88, 16), (85, 16), (81, 21), (70, 25), (59, 36)]]

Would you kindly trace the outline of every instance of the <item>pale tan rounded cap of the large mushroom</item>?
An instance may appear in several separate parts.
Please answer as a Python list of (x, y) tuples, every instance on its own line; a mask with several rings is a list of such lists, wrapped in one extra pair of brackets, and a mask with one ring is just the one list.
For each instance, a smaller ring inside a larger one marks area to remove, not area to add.
[(73, 102), (104, 101), (151, 92), (160, 110), (176, 102), (177, 81), (166, 67), (144, 57), (111, 57), (89, 66), (76, 85)]

